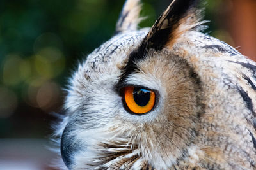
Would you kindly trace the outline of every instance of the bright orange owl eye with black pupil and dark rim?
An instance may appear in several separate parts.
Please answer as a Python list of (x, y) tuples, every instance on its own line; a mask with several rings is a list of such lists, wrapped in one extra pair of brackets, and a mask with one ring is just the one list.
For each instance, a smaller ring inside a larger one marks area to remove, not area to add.
[(122, 88), (123, 103), (130, 113), (148, 113), (154, 108), (156, 94), (152, 90), (128, 86)]

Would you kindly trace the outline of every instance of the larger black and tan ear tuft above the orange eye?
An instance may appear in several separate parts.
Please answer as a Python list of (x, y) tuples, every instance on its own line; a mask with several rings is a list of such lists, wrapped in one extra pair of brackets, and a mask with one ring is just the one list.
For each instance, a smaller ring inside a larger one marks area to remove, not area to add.
[(173, 0), (145, 37), (146, 48), (171, 47), (182, 34), (203, 24), (197, 6), (198, 0)]

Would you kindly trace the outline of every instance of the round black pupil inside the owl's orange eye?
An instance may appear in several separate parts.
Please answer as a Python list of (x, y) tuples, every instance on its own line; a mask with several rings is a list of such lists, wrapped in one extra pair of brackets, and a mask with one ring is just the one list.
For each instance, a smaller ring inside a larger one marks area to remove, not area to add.
[(147, 89), (135, 87), (133, 90), (133, 98), (135, 103), (139, 106), (146, 106), (150, 99), (150, 91)]

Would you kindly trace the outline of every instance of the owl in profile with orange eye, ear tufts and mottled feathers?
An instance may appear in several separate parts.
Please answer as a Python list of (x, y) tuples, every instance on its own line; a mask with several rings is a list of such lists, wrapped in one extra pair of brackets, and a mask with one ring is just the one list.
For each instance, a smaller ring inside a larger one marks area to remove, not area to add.
[(70, 78), (63, 168), (256, 169), (256, 63), (202, 33), (196, 0), (173, 0), (151, 28), (140, 10), (127, 0)]

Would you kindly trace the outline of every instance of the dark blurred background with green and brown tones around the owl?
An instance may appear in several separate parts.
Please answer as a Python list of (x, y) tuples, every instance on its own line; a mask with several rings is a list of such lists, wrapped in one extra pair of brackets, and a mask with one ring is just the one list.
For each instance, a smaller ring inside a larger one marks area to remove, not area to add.
[[(207, 0), (212, 36), (256, 59), (256, 1)], [(0, 1), (0, 169), (54, 169), (52, 113), (77, 61), (115, 31), (124, 1)], [(143, 0), (150, 27), (170, 0)]]

